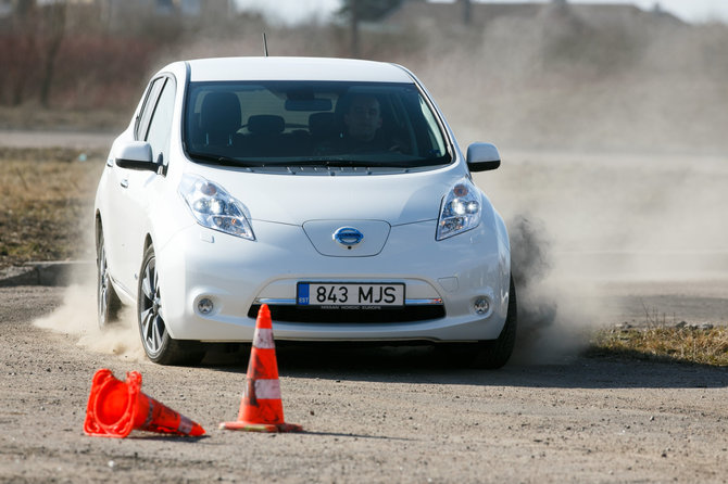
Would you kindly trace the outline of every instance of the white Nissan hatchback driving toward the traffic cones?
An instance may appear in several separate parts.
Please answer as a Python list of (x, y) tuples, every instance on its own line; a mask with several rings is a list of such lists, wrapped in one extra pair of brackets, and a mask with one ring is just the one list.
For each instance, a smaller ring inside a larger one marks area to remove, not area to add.
[(150, 81), (96, 196), (99, 324), (137, 308), (159, 364), (276, 340), (432, 343), (499, 368), (516, 298), (503, 219), (429, 93), (388, 63), (176, 62)]

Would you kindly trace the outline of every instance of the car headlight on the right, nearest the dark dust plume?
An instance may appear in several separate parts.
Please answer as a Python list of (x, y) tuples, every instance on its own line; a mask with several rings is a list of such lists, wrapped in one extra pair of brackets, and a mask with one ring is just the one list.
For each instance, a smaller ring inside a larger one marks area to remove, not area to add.
[(480, 194), (466, 178), (459, 181), (442, 199), (437, 221), (437, 240), (463, 233), (480, 224)]

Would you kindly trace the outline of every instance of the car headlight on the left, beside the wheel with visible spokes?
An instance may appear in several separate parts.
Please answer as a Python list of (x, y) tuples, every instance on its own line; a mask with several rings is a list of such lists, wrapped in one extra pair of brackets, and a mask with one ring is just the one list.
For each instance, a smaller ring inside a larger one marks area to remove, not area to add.
[(179, 194), (202, 227), (255, 240), (253, 228), (244, 215), (246, 206), (219, 184), (186, 174), (179, 183)]

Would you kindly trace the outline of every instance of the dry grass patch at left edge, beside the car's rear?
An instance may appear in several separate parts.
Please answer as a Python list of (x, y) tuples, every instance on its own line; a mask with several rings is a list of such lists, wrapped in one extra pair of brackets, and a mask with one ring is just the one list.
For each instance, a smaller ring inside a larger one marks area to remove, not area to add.
[(28, 260), (92, 258), (96, 184), (103, 168), (73, 150), (0, 151), (0, 269)]

